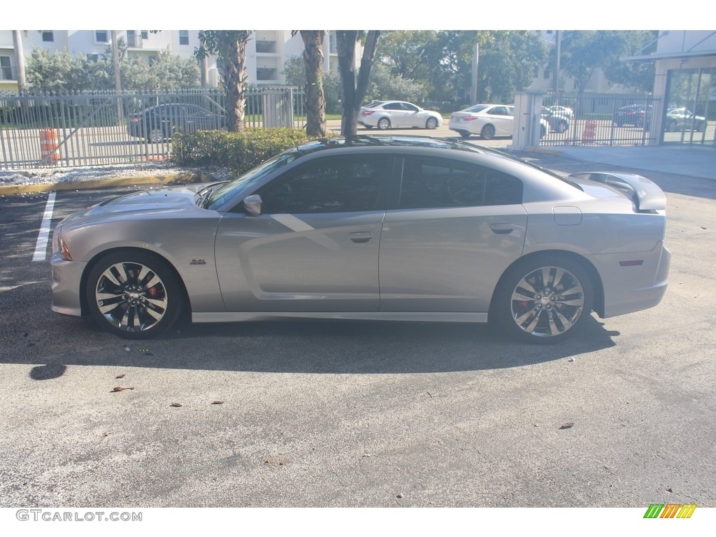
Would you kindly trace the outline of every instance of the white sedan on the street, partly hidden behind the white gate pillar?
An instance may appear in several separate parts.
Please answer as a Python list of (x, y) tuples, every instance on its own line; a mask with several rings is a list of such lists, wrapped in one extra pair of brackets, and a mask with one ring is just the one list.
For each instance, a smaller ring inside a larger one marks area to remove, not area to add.
[[(480, 135), (483, 140), (495, 136), (512, 136), (515, 107), (512, 105), (474, 105), (450, 115), (450, 130), (458, 132), (463, 138)], [(549, 125), (540, 120), (540, 137), (549, 132)]]

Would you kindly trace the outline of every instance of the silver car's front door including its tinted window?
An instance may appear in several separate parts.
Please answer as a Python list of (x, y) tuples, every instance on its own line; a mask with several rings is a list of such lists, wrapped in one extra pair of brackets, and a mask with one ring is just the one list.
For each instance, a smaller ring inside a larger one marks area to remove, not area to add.
[(313, 160), (256, 192), (261, 216), (222, 218), (216, 263), (227, 311), (377, 311), (394, 160)]

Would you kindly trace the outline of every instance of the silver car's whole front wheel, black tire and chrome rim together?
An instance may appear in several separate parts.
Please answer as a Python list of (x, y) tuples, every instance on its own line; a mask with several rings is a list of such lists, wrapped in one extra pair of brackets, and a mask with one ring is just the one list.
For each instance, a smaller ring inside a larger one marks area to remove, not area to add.
[(185, 303), (180, 281), (166, 261), (136, 250), (102, 257), (87, 277), (86, 291), (92, 319), (127, 339), (148, 339), (168, 329)]

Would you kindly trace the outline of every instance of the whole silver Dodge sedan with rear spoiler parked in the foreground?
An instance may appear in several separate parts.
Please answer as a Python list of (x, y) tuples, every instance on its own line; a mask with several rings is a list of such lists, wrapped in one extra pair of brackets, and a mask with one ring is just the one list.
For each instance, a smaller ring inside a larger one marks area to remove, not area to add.
[(657, 185), (629, 173), (563, 179), (430, 137), (317, 140), (230, 182), (69, 216), (52, 239), (52, 309), (134, 339), (190, 312), (493, 321), (558, 342), (592, 310), (659, 303), (664, 207)]

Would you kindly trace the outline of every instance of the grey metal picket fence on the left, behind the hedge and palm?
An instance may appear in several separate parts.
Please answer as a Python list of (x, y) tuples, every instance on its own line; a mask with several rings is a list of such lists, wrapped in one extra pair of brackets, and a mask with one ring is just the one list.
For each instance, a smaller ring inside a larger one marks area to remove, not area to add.
[[(226, 128), (221, 89), (0, 97), (0, 170), (167, 160), (177, 131)], [(246, 127), (303, 128), (304, 92), (251, 89)]]

